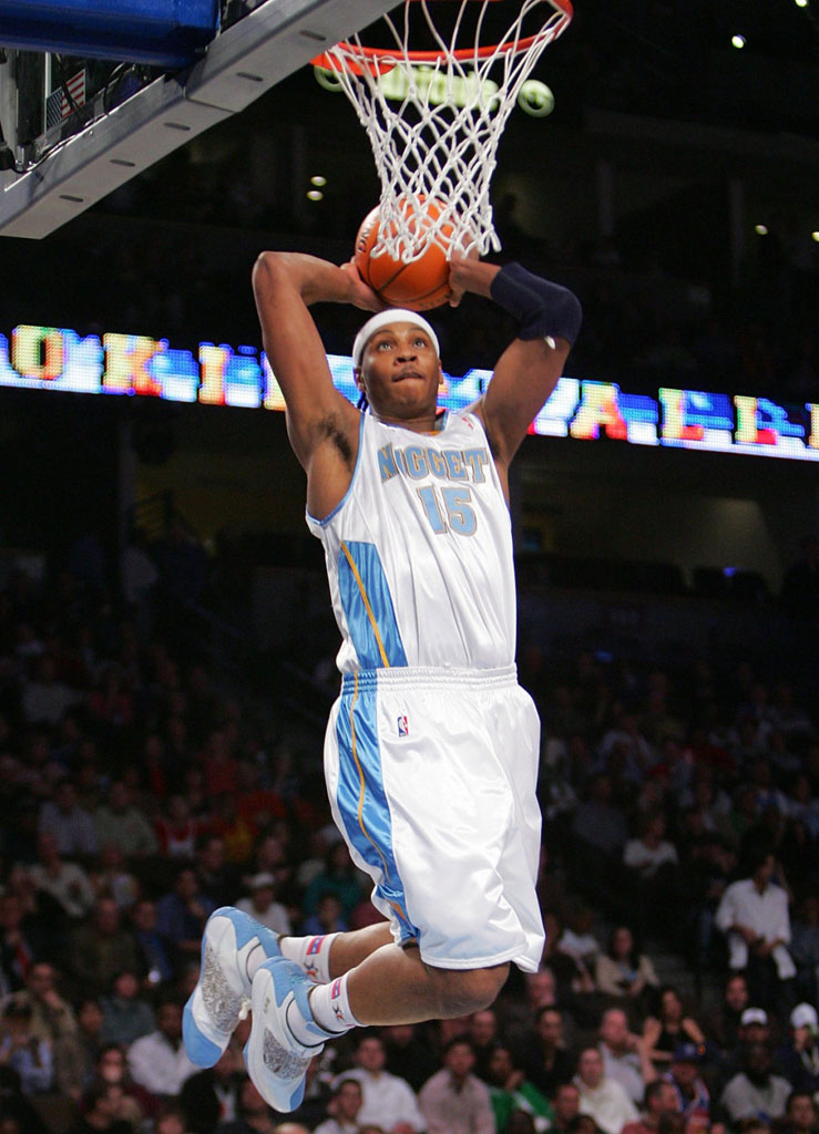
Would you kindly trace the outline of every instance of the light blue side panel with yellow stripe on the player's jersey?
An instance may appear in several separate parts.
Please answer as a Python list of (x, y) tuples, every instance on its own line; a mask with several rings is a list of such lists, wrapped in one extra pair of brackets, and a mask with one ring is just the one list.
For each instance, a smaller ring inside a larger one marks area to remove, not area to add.
[(361, 668), (406, 666), (392, 596), (374, 543), (341, 543), (338, 593)]

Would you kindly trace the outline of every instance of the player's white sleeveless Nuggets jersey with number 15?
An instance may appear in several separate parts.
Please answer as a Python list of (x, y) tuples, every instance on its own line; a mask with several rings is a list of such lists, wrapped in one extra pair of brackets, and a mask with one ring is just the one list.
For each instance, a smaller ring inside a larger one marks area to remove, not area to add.
[(512, 522), (474, 414), (430, 434), (362, 414), (349, 489), (307, 526), (324, 545), (343, 674), (514, 661)]

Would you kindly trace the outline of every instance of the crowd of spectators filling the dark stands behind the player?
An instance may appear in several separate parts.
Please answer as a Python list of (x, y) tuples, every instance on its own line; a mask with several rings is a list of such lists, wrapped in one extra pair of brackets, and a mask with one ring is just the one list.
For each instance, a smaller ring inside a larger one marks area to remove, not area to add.
[(248, 1023), (203, 1072), (181, 1006), (219, 905), (281, 933), (377, 919), (320, 734), (294, 759), (189, 649), (152, 601), (161, 564), (120, 604), (83, 561), (0, 593), (0, 1134), (817, 1134), (809, 685), (527, 646), (540, 971), (474, 1016), (329, 1046), (285, 1120), (244, 1072)]

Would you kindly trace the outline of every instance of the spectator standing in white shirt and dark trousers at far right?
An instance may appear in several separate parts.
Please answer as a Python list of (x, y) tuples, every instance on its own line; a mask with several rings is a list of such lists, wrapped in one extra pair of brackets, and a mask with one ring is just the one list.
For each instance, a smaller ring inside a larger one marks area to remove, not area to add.
[(787, 949), (791, 943), (787, 894), (772, 881), (775, 870), (774, 855), (759, 847), (751, 877), (727, 888), (715, 916), (717, 928), (728, 938), (731, 968), (748, 970), (751, 998), (767, 1008), (774, 1007), (777, 993), (783, 991), (782, 982), (796, 975)]

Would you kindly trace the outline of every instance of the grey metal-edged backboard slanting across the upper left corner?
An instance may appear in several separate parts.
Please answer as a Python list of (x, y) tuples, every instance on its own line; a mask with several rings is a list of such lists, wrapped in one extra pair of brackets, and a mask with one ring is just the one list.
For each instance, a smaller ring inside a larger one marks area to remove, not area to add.
[[(43, 121), (28, 166), (0, 172), (0, 236), (48, 236), (392, 7), (395, 0), (262, 0), (218, 32), (192, 68), (143, 75), (138, 90), (113, 107), (103, 91), (75, 133)], [(18, 120), (20, 98), (29, 98), (20, 94), (18, 73), (32, 57), (2, 56), (0, 125), (15, 153), (18, 139), (7, 124)]]

